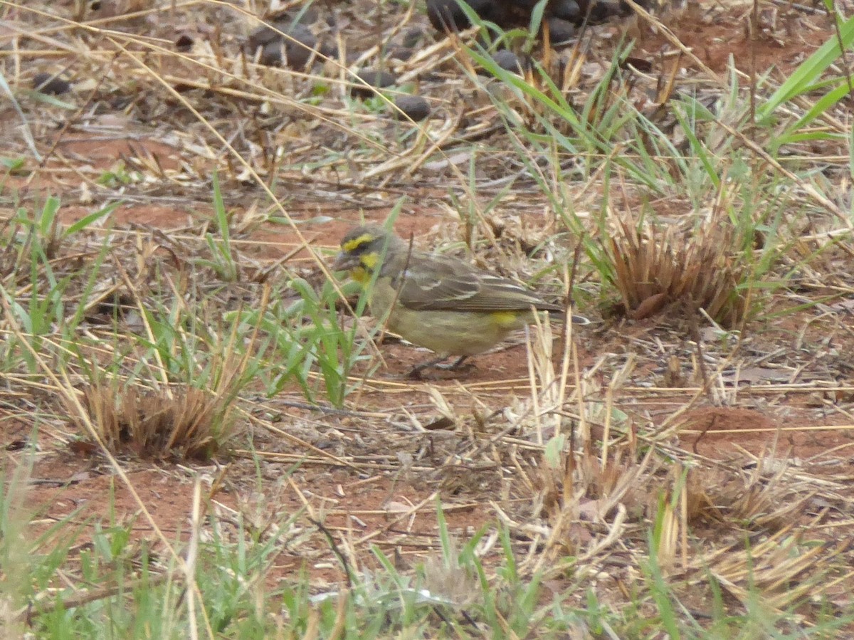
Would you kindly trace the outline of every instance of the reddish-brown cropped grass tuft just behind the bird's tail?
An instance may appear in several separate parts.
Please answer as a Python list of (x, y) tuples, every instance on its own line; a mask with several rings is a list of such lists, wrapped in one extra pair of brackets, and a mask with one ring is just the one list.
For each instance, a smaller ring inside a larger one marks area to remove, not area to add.
[(607, 251), (626, 314), (640, 320), (682, 302), (705, 309), (722, 326), (737, 326), (746, 297), (738, 290), (745, 268), (734, 255), (735, 240), (718, 224), (687, 234), (672, 226), (644, 232), (632, 220), (620, 220)]

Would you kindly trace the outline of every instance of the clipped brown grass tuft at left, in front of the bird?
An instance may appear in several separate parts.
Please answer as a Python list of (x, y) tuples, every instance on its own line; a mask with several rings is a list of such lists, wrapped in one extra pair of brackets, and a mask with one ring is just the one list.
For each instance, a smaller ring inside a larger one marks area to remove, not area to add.
[[(102, 443), (114, 453), (208, 460), (231, 431), (231, 411), (223, 399), (192, 387), (141, 394), (132, 387), (90, 385), (83, 390), (81, 404)], [(73, 424), (84, 428), (85, 418), (71, 414)]]

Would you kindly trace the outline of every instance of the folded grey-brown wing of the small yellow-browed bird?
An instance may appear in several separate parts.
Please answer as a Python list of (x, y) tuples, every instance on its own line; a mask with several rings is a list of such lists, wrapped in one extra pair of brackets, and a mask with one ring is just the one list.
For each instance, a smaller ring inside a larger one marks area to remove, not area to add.
[[(511, 279), (485, 273), (464, 261), (447, 256), (429, 256), (411, 261), (403, 273), (398, 300), (418, 311), (561, 311), (558, 305), (517, 285)], [(424, 265), (424, 267), (419, 267)]]

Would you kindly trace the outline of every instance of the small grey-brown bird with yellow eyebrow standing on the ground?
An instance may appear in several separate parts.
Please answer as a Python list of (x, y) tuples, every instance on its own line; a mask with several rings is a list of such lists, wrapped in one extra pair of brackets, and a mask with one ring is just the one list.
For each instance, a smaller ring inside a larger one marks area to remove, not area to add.
[[(546, 302), (512, 279), (450, 255), (413, 249), (383, 226), (347, 232), (331, 269), (348, 272), (368, 290), (371, 315), (384, 320), (390, 332), (436, 352), (436, 359), (412, 369), (409, 375), (416, 379), (453, 355), (458, 360), (445, 368), (459, 369), (469, 356), (534, 322), (535, 311), (561, 319), (565, 313), (563, 305)], [(589, 322), (577, 315), (572, 321)]]

